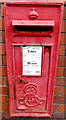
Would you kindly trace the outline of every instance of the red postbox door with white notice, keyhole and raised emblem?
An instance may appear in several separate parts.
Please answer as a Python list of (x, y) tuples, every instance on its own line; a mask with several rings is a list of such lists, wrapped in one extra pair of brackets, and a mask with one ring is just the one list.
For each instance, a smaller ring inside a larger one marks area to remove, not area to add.
[(46, 111), (50, 46), (14, 46), (17, 109)]

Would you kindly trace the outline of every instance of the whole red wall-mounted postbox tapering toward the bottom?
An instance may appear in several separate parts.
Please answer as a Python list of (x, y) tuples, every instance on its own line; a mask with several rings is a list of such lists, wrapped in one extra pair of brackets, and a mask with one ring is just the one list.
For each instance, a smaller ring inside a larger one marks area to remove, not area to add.
[(51, 117), (63, 3), (5, 3), (11, 116)]

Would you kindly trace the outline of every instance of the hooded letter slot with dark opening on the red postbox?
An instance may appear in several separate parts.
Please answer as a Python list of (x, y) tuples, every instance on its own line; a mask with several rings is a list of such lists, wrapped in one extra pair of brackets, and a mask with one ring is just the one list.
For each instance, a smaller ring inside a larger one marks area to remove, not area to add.
[(52, 36), (53, 20), (12, 20), (13, 34), (24, 36)]

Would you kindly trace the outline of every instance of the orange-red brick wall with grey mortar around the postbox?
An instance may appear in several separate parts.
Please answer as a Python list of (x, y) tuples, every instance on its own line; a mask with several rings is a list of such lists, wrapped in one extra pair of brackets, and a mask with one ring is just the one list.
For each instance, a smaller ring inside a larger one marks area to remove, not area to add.
[[(45, 0), (47, 1), (47, 0)], [(50, 0), (49, 0), (50, 1)], [(8, 82), (6, 70), (6, 48), (4, 36), (4, 16), (3, 16), (3, 2), (0, 2), (0, 119), (9, 118), (8, 109)], [(62, 32), (60, 40), (60, 49), (58, 56), (57, 77), (55, 84), (55, 95), (53, 103), (52, 118), (66, 118), (66, 2), (64, 5), (64, 16), (62, 20)], [(52, 119), (50, 118), (50, 119)], [(13, 119), (13, 118), (12, 118)], [(34, 119), (34, 118), (20, 118), (20, 119)], [(44, 118), (35, 118), (43, 120)], [(34, 120), (35, 120), (34, 119)], [(49, 120), (49, 119), (46, 119)]]

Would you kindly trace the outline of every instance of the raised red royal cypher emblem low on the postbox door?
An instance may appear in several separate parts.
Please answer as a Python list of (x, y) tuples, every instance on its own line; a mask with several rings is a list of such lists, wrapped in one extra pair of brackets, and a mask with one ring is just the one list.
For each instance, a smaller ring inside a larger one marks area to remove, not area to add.
[(40, 105), (44, 103), (44, 99), (37, 95), (37, 86), (35, 84), (27, 84), (24, 87), (25, 96), (20, 98), (20, 104), (25, 104), (28, 107)]

